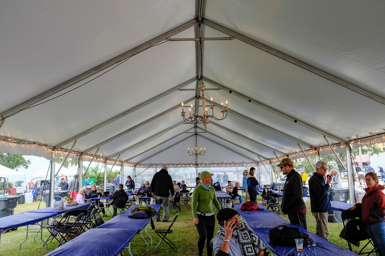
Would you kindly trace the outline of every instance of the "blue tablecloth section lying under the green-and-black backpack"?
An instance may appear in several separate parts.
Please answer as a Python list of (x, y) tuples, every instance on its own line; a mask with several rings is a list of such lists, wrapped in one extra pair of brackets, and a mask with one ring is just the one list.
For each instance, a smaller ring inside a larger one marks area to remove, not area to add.
[[(137, 205), (135, 205), (137, 206)], [(132, 206), (131, 208), (135, 207)], [(156, 211), (159, 211), (161, 208), (161, 205), (147, 205), (152, 206)], [(129, 229), (136, 229), (136, 230), (142, 230), (144, 229), (147, 224), (150, 221), (150, 218), (147, 219), (131, 219), (128, 217), (128, 215), (131, 215), (131, 208), (129, 210), (124, 211), (123, 213), (115, 216), (111, 220), (107, 221), (106, 223), (100, 225), (97, 228), (129, 228)]]

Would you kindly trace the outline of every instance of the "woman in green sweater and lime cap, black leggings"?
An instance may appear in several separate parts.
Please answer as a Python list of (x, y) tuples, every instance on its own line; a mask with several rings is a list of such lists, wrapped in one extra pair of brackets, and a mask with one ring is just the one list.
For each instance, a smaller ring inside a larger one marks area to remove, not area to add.
[(207, 256), (213, 255), (213, 248), (210, 245), (210, 240), (213, 238), (215, 228), (213, 204), (218, 211), (221, 210), (221, 206), (215, 195), (214, 187), (209, 184), (211, 176), (213, 175), (214, 174), (207, 171), (202, 172), (201, 176), (199, 176), (201, 184), (199, 184), (198, 187), (194, 189), (194, 192), (192, 192), (192, 217), (194, 218), (194, 224), (199, 235), (199, 256), (203, 253), (204, 242), (206, 239)]

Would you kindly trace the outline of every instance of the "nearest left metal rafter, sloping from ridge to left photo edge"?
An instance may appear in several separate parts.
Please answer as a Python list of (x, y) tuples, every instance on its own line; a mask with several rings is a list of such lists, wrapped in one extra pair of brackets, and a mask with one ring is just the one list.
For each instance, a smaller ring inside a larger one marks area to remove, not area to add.
[(8, 117), (8, 116), (15, 114), (16, 112), (20, 111), (21, 109), (32, 106), (33, 104), (35, 104), (39, 101), (42, 101), (43, 99), (46, 99), (47, 97), (52, 96), (57, 92), (60, 92), (66, 88), (69, 88), (70, 86), (72, 86), (76, 83), (79, 83), (80, 81), (83, 81), (84, 79), (89, 78), (90, 76), (97, 74), (100, 71), (103, 71), (104, 69), (109, 68), (109, 67), (123, 61), (124, 59), (127, 59), (131, 56), (134, 56), (137, 53), (140, 53), (140, 52), (148, 49), (149, 47), (154, 46), (157, 43), (160, 43), (161, 41), (166, 40), (166, 38), (170, 38), (171, 36), (174, 36), (174, 35), (182, 32), (182, 31), (186, 30), (187, 28), (191, 28), (192, 26), (195, 26), (197, 23), (198, 22), (196, 21), (195, 18), (193, 20), (187, 21), (186, 23), (184, 23), (180, 26), (177, 26), (176, 28), (173, 28), (172, 30), (167, 31), (166, 33), (164, 33), (160, 36), (152, 38), (151, 40), (147, 41), (146, 43), (142, 43), (141, 45), (136, 46), (136, 47), (132, 48), (131, 50), (128, 50), (128, 51), (126, 51), (126, 52), (124, 52), (118, 56), (115, 56), (112, 59), (104, 61), (103, 63), (95, 66), (94, 68), (91, 68), (91, 69), (83, 72), (82, 74), (79, 74), (79, 75), (77, 75), (77, 76), (57, 85), (57, 86), (54, 86), (53, 88), (48, 89), (47, 91), (44, 91), (44, 92), (42, 92), (42, 93), (40, 93), (40, 94), (30, 98), (30, 99), (27, 99), (26, 101), (23, 101), (22, 103), (14, 106), (14, 107), (11, 107), (10, 109), (0, 113), (0, 117), (1, 118)]

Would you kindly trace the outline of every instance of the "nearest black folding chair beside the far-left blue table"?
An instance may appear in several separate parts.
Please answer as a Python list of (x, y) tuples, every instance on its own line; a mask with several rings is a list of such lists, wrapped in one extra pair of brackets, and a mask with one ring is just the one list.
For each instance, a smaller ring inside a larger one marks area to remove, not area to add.
[[(63, 214), (62, 218), (65, 218), (65, 227), (64, 228), (59, 228), (57, 230), (57, 234), (60, 236), (60, 245), (68, 242), (70, 239), (75, 238), (76, 236), (79, 236), (81, 233), (81, 230), (83, 230), (83, 223), (79, 223), (79, 220), (82, 219), (84, 215), (87, 214), (87, 210), (72, 210), (72, 211), (66, 211)], [(70, 218), (74, 218), (74, 222), (69, 222)]]

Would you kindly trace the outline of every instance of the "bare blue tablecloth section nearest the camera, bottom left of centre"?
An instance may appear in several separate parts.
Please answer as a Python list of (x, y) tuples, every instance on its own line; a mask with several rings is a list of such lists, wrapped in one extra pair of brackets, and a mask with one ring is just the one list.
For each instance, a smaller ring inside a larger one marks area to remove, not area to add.
[(93, 228), (45, 256), (115, 256), (126, 248), (137, 233), (135, 229)]

